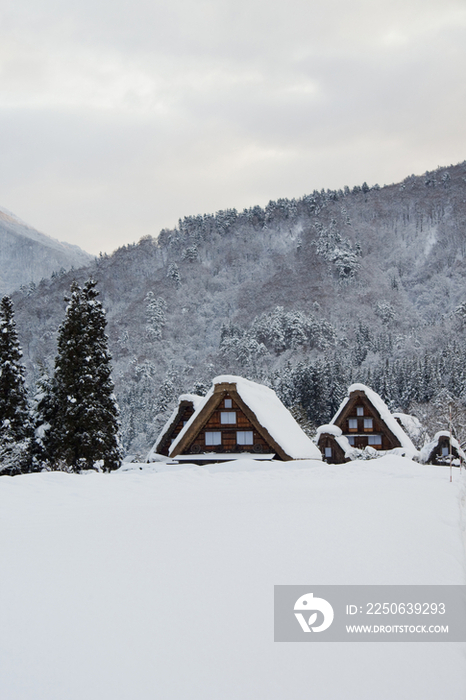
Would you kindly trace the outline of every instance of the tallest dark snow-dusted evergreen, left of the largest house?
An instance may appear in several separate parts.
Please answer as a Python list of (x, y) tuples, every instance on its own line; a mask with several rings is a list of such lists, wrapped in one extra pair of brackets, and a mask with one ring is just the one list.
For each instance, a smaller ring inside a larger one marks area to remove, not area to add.
[(51, 425), (44, 448), (52, 466), (73, 471), (121, 463), (118, 407), (113, 394), (105, 311), (96, 282), (71, 285), (58, 333), (51, 398), (44, 418)]

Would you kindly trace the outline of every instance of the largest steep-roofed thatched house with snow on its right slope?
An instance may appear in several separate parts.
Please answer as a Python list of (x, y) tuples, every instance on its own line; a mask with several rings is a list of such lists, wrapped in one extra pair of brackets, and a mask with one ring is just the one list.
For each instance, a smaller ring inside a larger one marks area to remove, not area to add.
[(222, 375), (173, 441), (169, 456), (205, 464), (253, 457), (287, 461), (321, 459), (272, 389)]

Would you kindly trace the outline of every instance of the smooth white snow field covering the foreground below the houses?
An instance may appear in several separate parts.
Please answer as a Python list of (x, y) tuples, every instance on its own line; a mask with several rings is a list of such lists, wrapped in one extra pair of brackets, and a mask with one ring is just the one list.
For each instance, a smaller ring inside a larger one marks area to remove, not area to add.
[(0, 697), (464, 700), (463, 644), (273, 642), (274, 584), (464, 584), (466, 478), (448, 472), (1, 477)]

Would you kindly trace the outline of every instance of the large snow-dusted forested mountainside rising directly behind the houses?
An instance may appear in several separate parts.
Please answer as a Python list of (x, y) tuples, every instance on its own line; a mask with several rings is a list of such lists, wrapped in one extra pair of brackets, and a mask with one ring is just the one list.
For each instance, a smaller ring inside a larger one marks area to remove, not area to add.
[(445, 392), (458, 406), (466, 396), (465, 253), (466, 162), (187, 217), (17, 293), (17, 325), (33, 381), (53, 361), (71, 280), (97, 279), (132, 449), (149, 445), (179, 393), (223, 372), (273, 385), (311, 424), (353, 380), (392, 408), (443, 410)]

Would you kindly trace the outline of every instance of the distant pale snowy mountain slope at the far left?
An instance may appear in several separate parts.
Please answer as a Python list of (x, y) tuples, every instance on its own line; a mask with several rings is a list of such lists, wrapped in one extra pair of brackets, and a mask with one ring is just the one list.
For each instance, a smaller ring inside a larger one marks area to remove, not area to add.
[(92, 256), (78, 246), (46, 236), (0, 209), (0, 293), (37, 284), (61, 268), (87, 265)]

